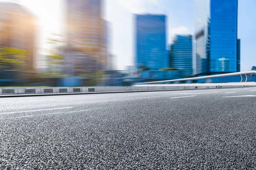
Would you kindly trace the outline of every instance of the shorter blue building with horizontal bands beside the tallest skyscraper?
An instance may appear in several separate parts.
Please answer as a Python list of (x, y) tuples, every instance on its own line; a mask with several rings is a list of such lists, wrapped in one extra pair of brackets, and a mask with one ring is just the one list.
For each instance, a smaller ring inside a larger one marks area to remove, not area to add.
[(170, 67), (179, 68), (183, 75), (193, 74), (192, 35), (175, 35), (170, 51)]

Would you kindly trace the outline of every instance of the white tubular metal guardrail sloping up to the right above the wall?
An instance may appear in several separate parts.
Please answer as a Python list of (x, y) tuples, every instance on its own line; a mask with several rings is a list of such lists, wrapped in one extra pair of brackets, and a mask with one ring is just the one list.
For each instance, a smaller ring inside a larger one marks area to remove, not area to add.
[(180, 82), (180, 81), (188, 81), (188, 80), (211, 79), (211, 78), (216, 78), (216, 77), (231, 77), (231, 76), (239, 76), (239, 75), (241, 76), (241, 82), (243, 81), (242, 75), (245, 75), (245, 77), (246, 77), (245, 82), (247, 82), (247, 74), (256, 74), (256, 71), (217, 74), (217, 75), (211, 75), (211, 76), (193, 77), (193, 78), (185, 78), (185, 79), (173, 79), (173, 80), (164, 80), (164, 81), (157, 81), (157, 82), (142, 82), (142, 83), (137, 83), (135, 85), (162, 83), (162, 82)]

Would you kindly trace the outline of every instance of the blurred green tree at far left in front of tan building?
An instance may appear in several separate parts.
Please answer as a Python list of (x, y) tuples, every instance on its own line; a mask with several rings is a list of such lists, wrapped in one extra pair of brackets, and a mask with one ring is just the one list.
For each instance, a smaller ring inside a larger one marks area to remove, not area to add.
[(29, 73), (28, 53), (18, 48), (0, 47), (1, 77), (20, 79)]

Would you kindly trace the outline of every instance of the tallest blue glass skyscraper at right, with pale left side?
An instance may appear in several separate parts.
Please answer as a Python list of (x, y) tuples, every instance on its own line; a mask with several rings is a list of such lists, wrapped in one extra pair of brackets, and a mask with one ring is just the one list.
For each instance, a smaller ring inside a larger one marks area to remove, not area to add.
[(194, 74), (239, 70), (237, 13), (238, 0), (195, 0)]

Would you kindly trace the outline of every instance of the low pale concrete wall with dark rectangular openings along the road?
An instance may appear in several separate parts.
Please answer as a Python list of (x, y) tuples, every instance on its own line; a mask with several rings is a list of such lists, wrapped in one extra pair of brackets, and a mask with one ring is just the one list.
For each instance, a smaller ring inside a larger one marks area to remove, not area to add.
[(136, 85), (136, 86), (99, 86), (99, 87), (51, 87), (51, 88), (0, 88), (0, 95), (15, 94), (59, 94), (59, 93), (93, 93), (122, 91), (159, 91), (207, 88), (244, 88), (256, 87), (255, 82), (241, 83), (202, 83), (177, 85)]

